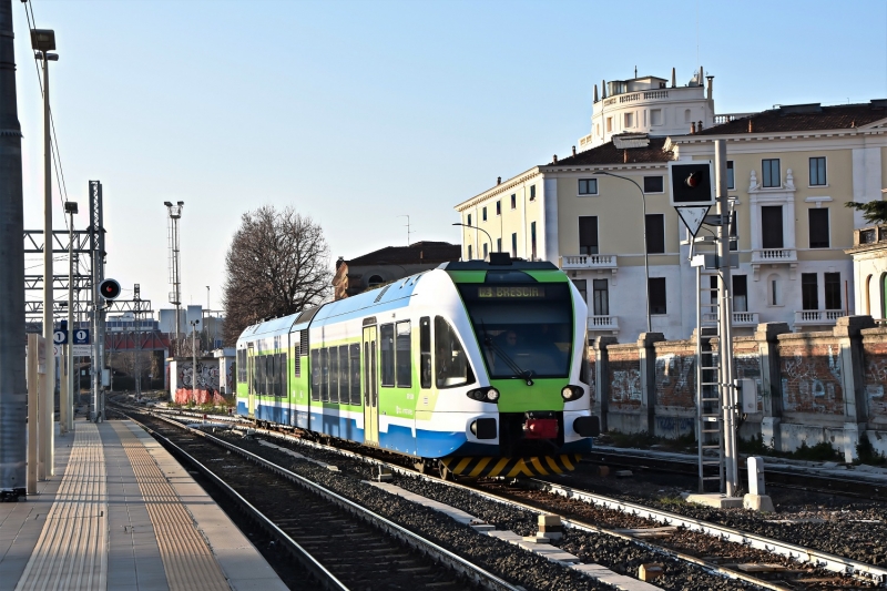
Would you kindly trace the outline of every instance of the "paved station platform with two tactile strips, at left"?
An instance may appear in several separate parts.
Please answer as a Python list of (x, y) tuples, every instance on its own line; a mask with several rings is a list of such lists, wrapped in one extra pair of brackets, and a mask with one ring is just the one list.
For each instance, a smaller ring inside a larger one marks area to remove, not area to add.
[(286, 590), (194, 479), (129, 420), (55, 435), (55, 476), (0, 503), (0, 588)]

